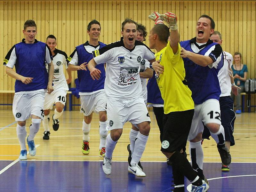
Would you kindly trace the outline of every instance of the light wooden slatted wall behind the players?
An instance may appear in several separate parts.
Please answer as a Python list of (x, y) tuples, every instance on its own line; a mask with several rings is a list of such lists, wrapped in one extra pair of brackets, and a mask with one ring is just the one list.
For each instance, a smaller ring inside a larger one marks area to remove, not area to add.
[[(23, 24), (28, 19), (36, 21), (38, 40), (45, 41), (46, 36), (53, 34), (57, 37), (57, 48), (69, 55), (76, 45), (88, 39), (86, 28), (92, 19), (100, 21), (100, 41), (108, 44), (120, 39), (121, 23), (126, 17), (144, 24), (149, 32), (154, 25), (148, 19), (151, 12), (172, 11), (178, 16), (180, 40), (194, 37), (198, 17), (210, 15), (215, 20), (215, 30), (222, 34), (223, 50), (231, 54), (241, 52), (249, 70), (248, 77), (254, 78), (255, 8), (255, 1), (0, 0), (0, 59), (3, 60), (12, 45), (23, 38)], [(73, 75), (76, 77), (75, 72)], [(5, 74), (2, 65), (0, 80), (0, 90), (14, 89), (14, 79)], [(5, 97), (10, 94), (4, 94), (0, 103), (9, 102)]]

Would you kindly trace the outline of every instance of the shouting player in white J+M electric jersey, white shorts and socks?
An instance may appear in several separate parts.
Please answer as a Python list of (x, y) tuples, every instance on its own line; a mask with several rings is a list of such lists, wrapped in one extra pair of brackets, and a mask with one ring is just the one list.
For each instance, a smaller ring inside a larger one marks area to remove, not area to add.
[(106, 63), (105, 93), (107, 97), (108, 130), (106, 154), (103, 171), (111, 173), (112, 153), (117, 140), (123, 132), (123, 125), (130, 121), (139, 128), (128, 171), (138, 177), (145, 177), (138, 165), (150, 131), (150, 118), (144, 99), (141, 96), (140, 62), (147, 59), (155, 61), (154, 53), (143, 43), (136, 41), (138, 26), (135, 21), (125, 19), (122, 23), (123, 40), (109, 44), (93, 52), (93, 59), (88, 63), (92, 79), (100, 79), (101, 71), (95, 66)]

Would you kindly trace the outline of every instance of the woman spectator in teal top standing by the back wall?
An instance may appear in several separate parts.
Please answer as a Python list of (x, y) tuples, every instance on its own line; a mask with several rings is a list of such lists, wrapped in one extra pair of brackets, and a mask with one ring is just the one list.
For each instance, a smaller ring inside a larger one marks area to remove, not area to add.
[(232, 65), (233, 75), (235, 84), (239, 86), (241, 89), (237, 89), (238, 94), (235, 96), (231, 92), (231, 97), (235, 101), (236, 100), (236, 113), (241, 113), (241, 92), (244, 92), (244, 82), (247, 78), (247, 66), (241, 63), (242, 54), (240, 52), (235, 52), (234, 54), (234, 65)]

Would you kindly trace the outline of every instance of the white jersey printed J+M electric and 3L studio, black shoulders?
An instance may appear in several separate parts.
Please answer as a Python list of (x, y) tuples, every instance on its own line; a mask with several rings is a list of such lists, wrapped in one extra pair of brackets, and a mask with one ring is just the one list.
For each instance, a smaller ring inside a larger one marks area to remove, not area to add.
[(107, 64), (104, 88), (108, 99), (126, 100), (140, 97), (140, 62), (142, 58), (155, 58), (147, 45), (135, 41), (134, 48), (129, 50), (121, 40), (92, 53), (97, 64)]

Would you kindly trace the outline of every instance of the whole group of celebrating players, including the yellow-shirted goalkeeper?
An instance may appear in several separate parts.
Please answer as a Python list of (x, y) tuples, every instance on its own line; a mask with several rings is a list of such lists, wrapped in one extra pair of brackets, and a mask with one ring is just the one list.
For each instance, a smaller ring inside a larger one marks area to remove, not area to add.
[[(221, 170), (229, 171), (229, 148), (235, 144), (235, 112), (230, 92), (237, 94), (238, 87), (231, 69), (232, 55), (220, 46), (220, 32), (214, 31), (211, 17), (202, 15), (196, 23), (196, 37), (180, 41), (175, 14), (153, 12), (148, 18), (155, 22), (148, 37), (149, 47), (143, 44), (147, 31), (142, 24), (125, 19), (120, 41), (106, 45), (99, 41), (100, 23), (92, 20), (87, 26), (89, 41), (76, 46), (69, 57), (55, 48), (55, 36), (49, 35), (46, 43), (37, 41), (35, 21), (25, 22), (25, 39), (15, 44), (4, 59), (7, 75), (16, 79), (12, 112), (17, 121), (20, 160), (27, 159), (26, 120), (31, 116), (27, 143), (30, 156), (35, 156), (34, 138), (41, 120), (43, 139), (49, 140), (50, 110), (55, 104), (52, 127), (57, 131), (71, 71), (77, 71), (80, 112), (84, 114), (82, 152), (90, 152), (89, 133), (92, 114), (96, 112), (100, 125), (99, 155), (103, 157), (106, 175), (111, 174), (113, 151), (129, 121), (132, 126), (127, 146), (128, 172), (146, 176), (140, 158), (150, 132), (147, 103), (153, 106), (156, 116), (161, 151), (167, 164), (172, 165), (174, 192), (185, 191), (184, 176), (192, 183), (191, 191), (208, 190), (202, 140), (209, 136), (217, 143)], [(187, 141), (192, 165), (187, 160)]]

